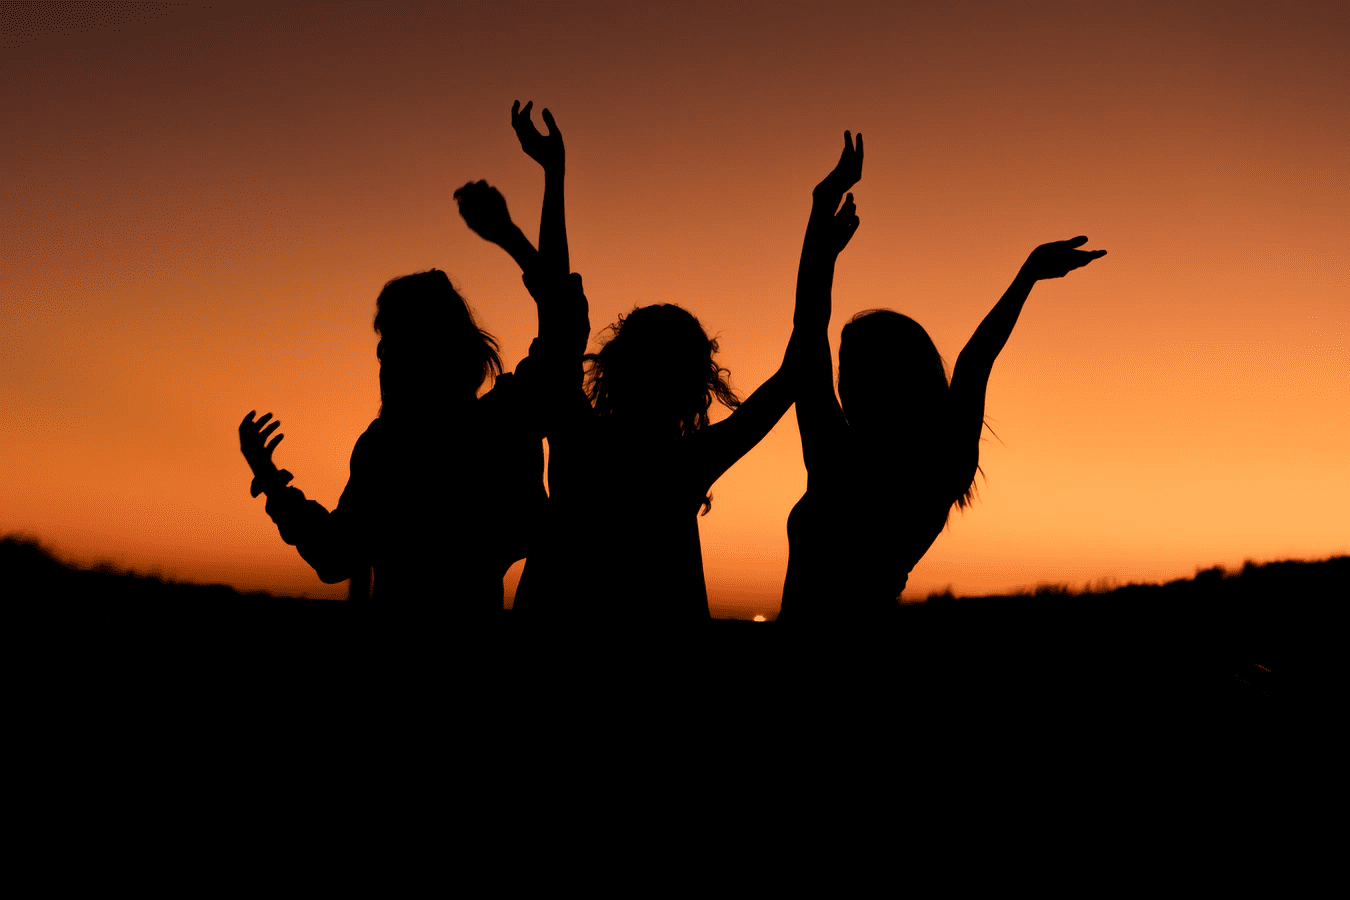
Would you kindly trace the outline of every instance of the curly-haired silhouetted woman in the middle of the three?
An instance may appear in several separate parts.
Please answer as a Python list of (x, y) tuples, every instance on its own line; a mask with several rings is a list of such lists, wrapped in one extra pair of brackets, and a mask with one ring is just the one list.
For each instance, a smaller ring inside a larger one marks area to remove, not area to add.
[[(842, 243), (813, 250), (803, 267), (833, 267)], [(585, 309), (575, 277), (526, 285), (541, 308)], [(578, 368), (554, 370), (547, 538), (526, 560), (516, 609), (551, 621), (705, 622), (698, 514), (791, 405), (791, 343), (784, 367), (738, 402), (717, 341), (684, 309), (636, 308), (609, 331), (585, 356), (583, 385)], [(717, 424), (714, 401), (733, 410)]]

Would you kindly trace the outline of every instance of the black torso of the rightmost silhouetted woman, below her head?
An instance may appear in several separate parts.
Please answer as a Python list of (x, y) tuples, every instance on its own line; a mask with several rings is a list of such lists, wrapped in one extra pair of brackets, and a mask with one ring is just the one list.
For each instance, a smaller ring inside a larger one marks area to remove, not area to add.
[(894, 615), (910, 571), (971, 483), (969, 455), (953, 449), (905, 457), (846, 429), (834, 459), (810, 470), (806, 494), (788, 514), (779, 621)]

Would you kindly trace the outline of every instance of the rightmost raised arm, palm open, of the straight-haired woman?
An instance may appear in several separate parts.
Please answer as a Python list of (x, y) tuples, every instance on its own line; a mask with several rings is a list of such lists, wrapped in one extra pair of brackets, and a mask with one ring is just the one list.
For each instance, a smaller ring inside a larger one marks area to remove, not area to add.
[(990, 385), (990, 372), (994, 371), (994, 360), (1007, 344), (1013, 327), (1022, 314), (1022, 305), (1026, 304), (1035, 282), (1045, 278), (1064, 278), (1075, 269), (1106, 256), (1104, 250), (1079, 250), (1085, 243), (1088, 239), (1080, 236), (1041, 244), (1033, 250), (1003, 297), (965, 343), (952, 371), (952, 410), (956, 417), (953, 426), (957, 441), (973, 440), (976, 447), (979, 444), (980, 429), (984, 425), (984, 394)]

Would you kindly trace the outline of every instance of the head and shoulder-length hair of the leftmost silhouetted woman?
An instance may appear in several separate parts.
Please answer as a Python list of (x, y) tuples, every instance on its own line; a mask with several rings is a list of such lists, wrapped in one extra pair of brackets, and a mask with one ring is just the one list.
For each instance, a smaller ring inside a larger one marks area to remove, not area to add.
[(374, 324), (381, 416), (473, 399), (502, 370), (497, 341), (439, 269), (386, 283)]

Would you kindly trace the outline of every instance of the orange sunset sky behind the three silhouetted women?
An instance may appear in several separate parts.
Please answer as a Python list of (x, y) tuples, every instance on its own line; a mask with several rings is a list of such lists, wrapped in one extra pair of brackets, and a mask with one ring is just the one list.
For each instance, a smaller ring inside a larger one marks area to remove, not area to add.
[[(1350, 552), (1346, 4), (3, 5), (0, 533), (343, 595), (248, 497), (235, 428), (275, 412), (336, 502), (394, 275), (444, 269), (525, 354), (533, 306), (450, 194), (486, 178), (536, 231), (533, 99), (597, 331), (678, 302), (742, 395), (845, 128), (836, 345), (890, 306), (950, 364), (1035, 244), (1110, 251), (1033, 293), (988, 482), (906, 596)], [(805, 483), (788, 413), (714, 486), (714, 614), (776, 613)]]

